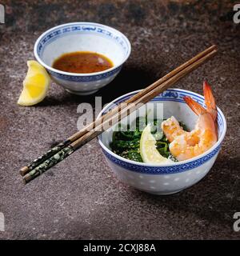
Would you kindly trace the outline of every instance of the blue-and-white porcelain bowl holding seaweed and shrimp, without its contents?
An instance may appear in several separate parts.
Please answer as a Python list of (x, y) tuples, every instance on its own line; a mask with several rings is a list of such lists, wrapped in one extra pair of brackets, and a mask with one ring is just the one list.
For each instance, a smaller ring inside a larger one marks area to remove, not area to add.
[[(98, 115), (98, 118), (110, 110), (115, 104), (125, 101), (127, 98), (138, 93), (138, 91), (125, 94), (115, 99), (113, 102), (110, 102)], [(194, 129), (198, 117), (192, 110), (190, 110), (190, 107), (186, 105), (186, 102), (183, 101), (182, 98), (184, 96), (190, 96), (202, 106), (205, 106), (204, 98), (200, 94), (196, 94), (189, 90), (169, 89), (148, 103), (148, 110), (156, 108), (156, 103), (162, 103), (164, 118), (169, 118), (173, 115), (179, 121), (184, 122), (188, 128), (192, 130)], [(155, 110), (154, 113), (157, 113)], [(141, 112), (142, 111), (140, 111), (140, 113)], [(136, 118), (136, 114), (131, 115), (130, 122), (134, 121), (134, 118)], [(141, 115), (145, 115), (145, 112), (143, 111), (142, 114), (139, 114), (139, 116)], [(122, 122), (124, 122), (124, 119)], [(102, 147), (106, 162), (116, 176), (122, 182), (129, 186), (133, 186), (138, 190), (143, 190), (151, 194), (174, 194), (193, 186), (210, 171), (218, 156), (222, 140), (226, 134), (226, 118), (218, 108), (218, 142), (210, 148), (210, 150), (207, 150), (204, 154), (201, 154), (198, 157), (165, 165), (134, 162), (122, 158), (118, 154), (114, 154), (110, 149), (113, 130), (114, 127), (98, 136), (98, 142)]]

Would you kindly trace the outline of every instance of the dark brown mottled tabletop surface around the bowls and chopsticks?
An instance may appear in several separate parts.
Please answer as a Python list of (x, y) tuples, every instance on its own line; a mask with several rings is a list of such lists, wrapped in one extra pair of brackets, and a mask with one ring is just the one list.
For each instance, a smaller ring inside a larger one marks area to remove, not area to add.
[[(231, 1), (1, 1), (0, 25), (0, 238), (240, 238), (240, 24)], [(103, 102), (149, 85), (188, 58), (218, 44), (219, 53), (179, 82), (202, 93), (212, 84), (228, 130), (217, 162), (197, 185), (172, 196), (153, 196), (124, 186), (106, 165), (96, 140), (45, 175), (23, 186), (21, 166), (74, 133), (77, 97), (53, 84), (34, 107), (16, 104), (26, 61), (46, 29), (64, 22), (101, 22), (130, 39), (132, 54), (121, 74), (98, 92)]]

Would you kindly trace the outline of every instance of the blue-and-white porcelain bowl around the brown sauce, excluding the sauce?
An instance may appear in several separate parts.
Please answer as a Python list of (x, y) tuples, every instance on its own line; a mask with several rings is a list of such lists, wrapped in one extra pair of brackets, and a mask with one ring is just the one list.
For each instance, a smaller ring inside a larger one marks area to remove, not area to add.
[[(76, 74), (52, 67), (56, 58), (74, 51), (103, 54), (114, 63), (108, 70)], [(55, 26), (35, 42), (34, 55), (51, 78), (70, 93), (87, 95), (110, 83), (130, 55), (131, 46), (124, 34), (110, 26), (93, 22), (74, 22)]]

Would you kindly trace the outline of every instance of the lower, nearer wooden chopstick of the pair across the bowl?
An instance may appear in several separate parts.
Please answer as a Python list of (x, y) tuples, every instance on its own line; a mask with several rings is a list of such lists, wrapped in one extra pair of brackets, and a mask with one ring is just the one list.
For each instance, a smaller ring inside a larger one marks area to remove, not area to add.
[[(110, 118), (106, 118), (106, 115), (104, 115), (105, 118), (103, 118), (103, 120), (101, 118), (103, 122), (98, 124), (98, 126), (95, 126), (95, 130), (91, 130), (86, 132), (86, 134), (82, 134), (80, 138), (74, 140), (74, 142), (71, 142), (70, 145), (65, 146), (64, 148), (62, 148), (62, 150), (59, 150), (56, 154), (52, 155), (50, 158), (46, 159), (46, 161), (42, 162), (40, 165), (35, 167), (34, 170), (31, 170), (23, 178), (24, 182), (25, 183), (30, 182), (34, 178), (37, 178), (40, 174), (44, 173), (46, 170), (50, 169), (52, 166), (56, 165), (58, 162), (61, 162), (67, 156), (72, 154), (75, 150), (78, 150), (81, 146), (85, 145), (87, 142), (97, 137), (99, 134), (102, 134), (104, 130), (109, 129), (110, 126), (113, 126), (114, 124), (119, 122), (122, 118), (125, 118), (127, 115), (134, 112), (134, 110), (137, 110), (139, 106), (141, 106), (141, 104), (146, 104), (146, 102), (149, 102), (150, 99), (162, 93), (162, 91), (172, 86), (175, 82), (178, 82), (181, 78), (185, 77), (186, 74), (189, 74), (192, 70), (202, 65), (203, 62), (206, 62), (207, 60), (212, 58), (216, 53), (217, 53), (217, 50), (214, 47), (214, 49), (211, 50), (208, 54), (202, 56), (202, 58), (197, 59), (195, 62), (192, 62), (189, 66), (186, 66), (184, 69), (180, 70), (178, 73), (174, 74), (173, 76), (170, 76), (170, 78), (166, 79), (165, 82), (158, 83), (157, 86), (154, 86), (153, 90), (150, 90), (146, 94), (143, 94), (143, 95), (141, 94), (142, 97), (135, 98), (135, 101), (132, 102), (134, 104), (128, 104), (125, 108), (120, 110), (120, 112), (111, 115)], [(95, 124), (97, 123), (98, 122), (95, 122)], [(91, 126), (93, 126), (93, 124), (91, 124)]]

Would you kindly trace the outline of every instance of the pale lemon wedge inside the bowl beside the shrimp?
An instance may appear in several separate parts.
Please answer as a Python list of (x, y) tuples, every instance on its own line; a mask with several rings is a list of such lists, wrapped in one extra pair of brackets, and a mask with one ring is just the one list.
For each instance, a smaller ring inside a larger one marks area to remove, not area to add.
[(147, 125), (144, 130), (142, 130), (141, 140), (140, 140), (140, 154), (143, 162), (146, 163), (170, 163), (173, 162), (168, 158), (164, 158), (156, 148), (156, 140), (151, 134), (150, 125)]

